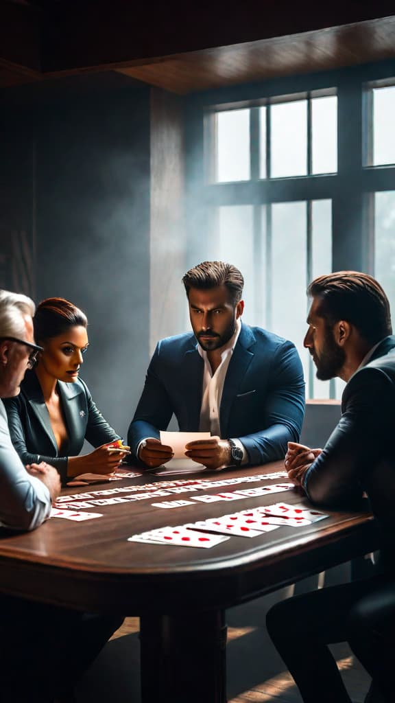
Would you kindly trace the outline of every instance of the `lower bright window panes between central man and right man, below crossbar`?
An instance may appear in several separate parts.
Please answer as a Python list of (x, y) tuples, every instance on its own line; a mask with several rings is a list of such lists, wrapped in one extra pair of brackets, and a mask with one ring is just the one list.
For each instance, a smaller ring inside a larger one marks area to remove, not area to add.
[(208, 250), (210, 259), (237, 262), (245, 277), (243, 321), (294, 342), (308, 395), (320, 398), (329, 398), (333, 391), (329, 382), (315, 378), (311, 356), (303, 347), (306, 285), (332, 269), (331, 205), (330, 200), (278, 202), (259, 207), (255, 219), (251, 205), (219, 207), (217, 236)]

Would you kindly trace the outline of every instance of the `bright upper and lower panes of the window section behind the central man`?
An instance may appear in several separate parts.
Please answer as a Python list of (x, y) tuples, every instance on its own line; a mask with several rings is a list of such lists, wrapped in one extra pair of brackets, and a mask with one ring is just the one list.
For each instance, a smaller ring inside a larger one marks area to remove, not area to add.
[[(299, 176), (336, 172), (334, 94), (282, 96), (264, 105), (214, 111), (209, 128), (214, 183), (289, 179), (291, 184)], [(331, 199), (219, 205), (211, 212), (212, 237), (202, 257), (237, 262), (245, 277), (244, 321), (292, 340), (308, 395), (330, 397), (334, 388), (316, 380), (303, 340), (306, 285), (332, 269)]]

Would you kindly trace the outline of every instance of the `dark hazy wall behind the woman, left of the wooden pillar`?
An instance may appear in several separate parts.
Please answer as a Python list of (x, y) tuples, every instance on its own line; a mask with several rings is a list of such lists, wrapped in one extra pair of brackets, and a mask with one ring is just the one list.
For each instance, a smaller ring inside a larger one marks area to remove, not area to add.
[[(82, 378), (125, 434), (148, 359), (150, 89), (115, 74), (59, 83), (6, 91), (3, 135), (6, 121), (8, 144), (30, 155), (30, 182), (13, 182), (31, 189), (36, 299), (67, 297), (86, 311)], [(5, 169), (9, 179), (15, 164)]]

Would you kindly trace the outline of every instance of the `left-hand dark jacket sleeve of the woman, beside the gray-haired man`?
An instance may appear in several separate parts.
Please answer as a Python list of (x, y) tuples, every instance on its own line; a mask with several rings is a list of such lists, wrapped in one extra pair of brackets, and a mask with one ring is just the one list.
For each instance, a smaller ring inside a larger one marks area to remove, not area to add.
[[(41, 461), (56, 467), (62, 479), (67, 475), (67, 456), (44, 456), (43, 454), (27, 451), (25, 426), (27, 407), (22, 394), (15, 398), (4, 399), (11, 441), (23, 465), (39, 464)], [(39, 441), (37, 439), (37, 446)]]

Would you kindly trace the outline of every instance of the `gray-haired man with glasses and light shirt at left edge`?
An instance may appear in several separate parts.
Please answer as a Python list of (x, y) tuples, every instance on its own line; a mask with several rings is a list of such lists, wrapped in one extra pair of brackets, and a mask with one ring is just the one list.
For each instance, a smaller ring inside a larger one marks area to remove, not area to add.
[[(0, 398), (18, 395), (41, 347), (34, 344), (34, 303), (0, 290)], [(11, 443), (0, 400), (0, 528), (31, 530), (51, 514), (60, 493), (57, 470), (25, 467)], [(0, 539), (3, 534), (0, 529)], [(45, 539), (45, 537), (44, 537)], [(71, 703), (72, 689), (122, 619), (80, 613), (0, 595), (0, 699), (4, 703)], [(72, 669), (67, 662), (72, 659)]]

